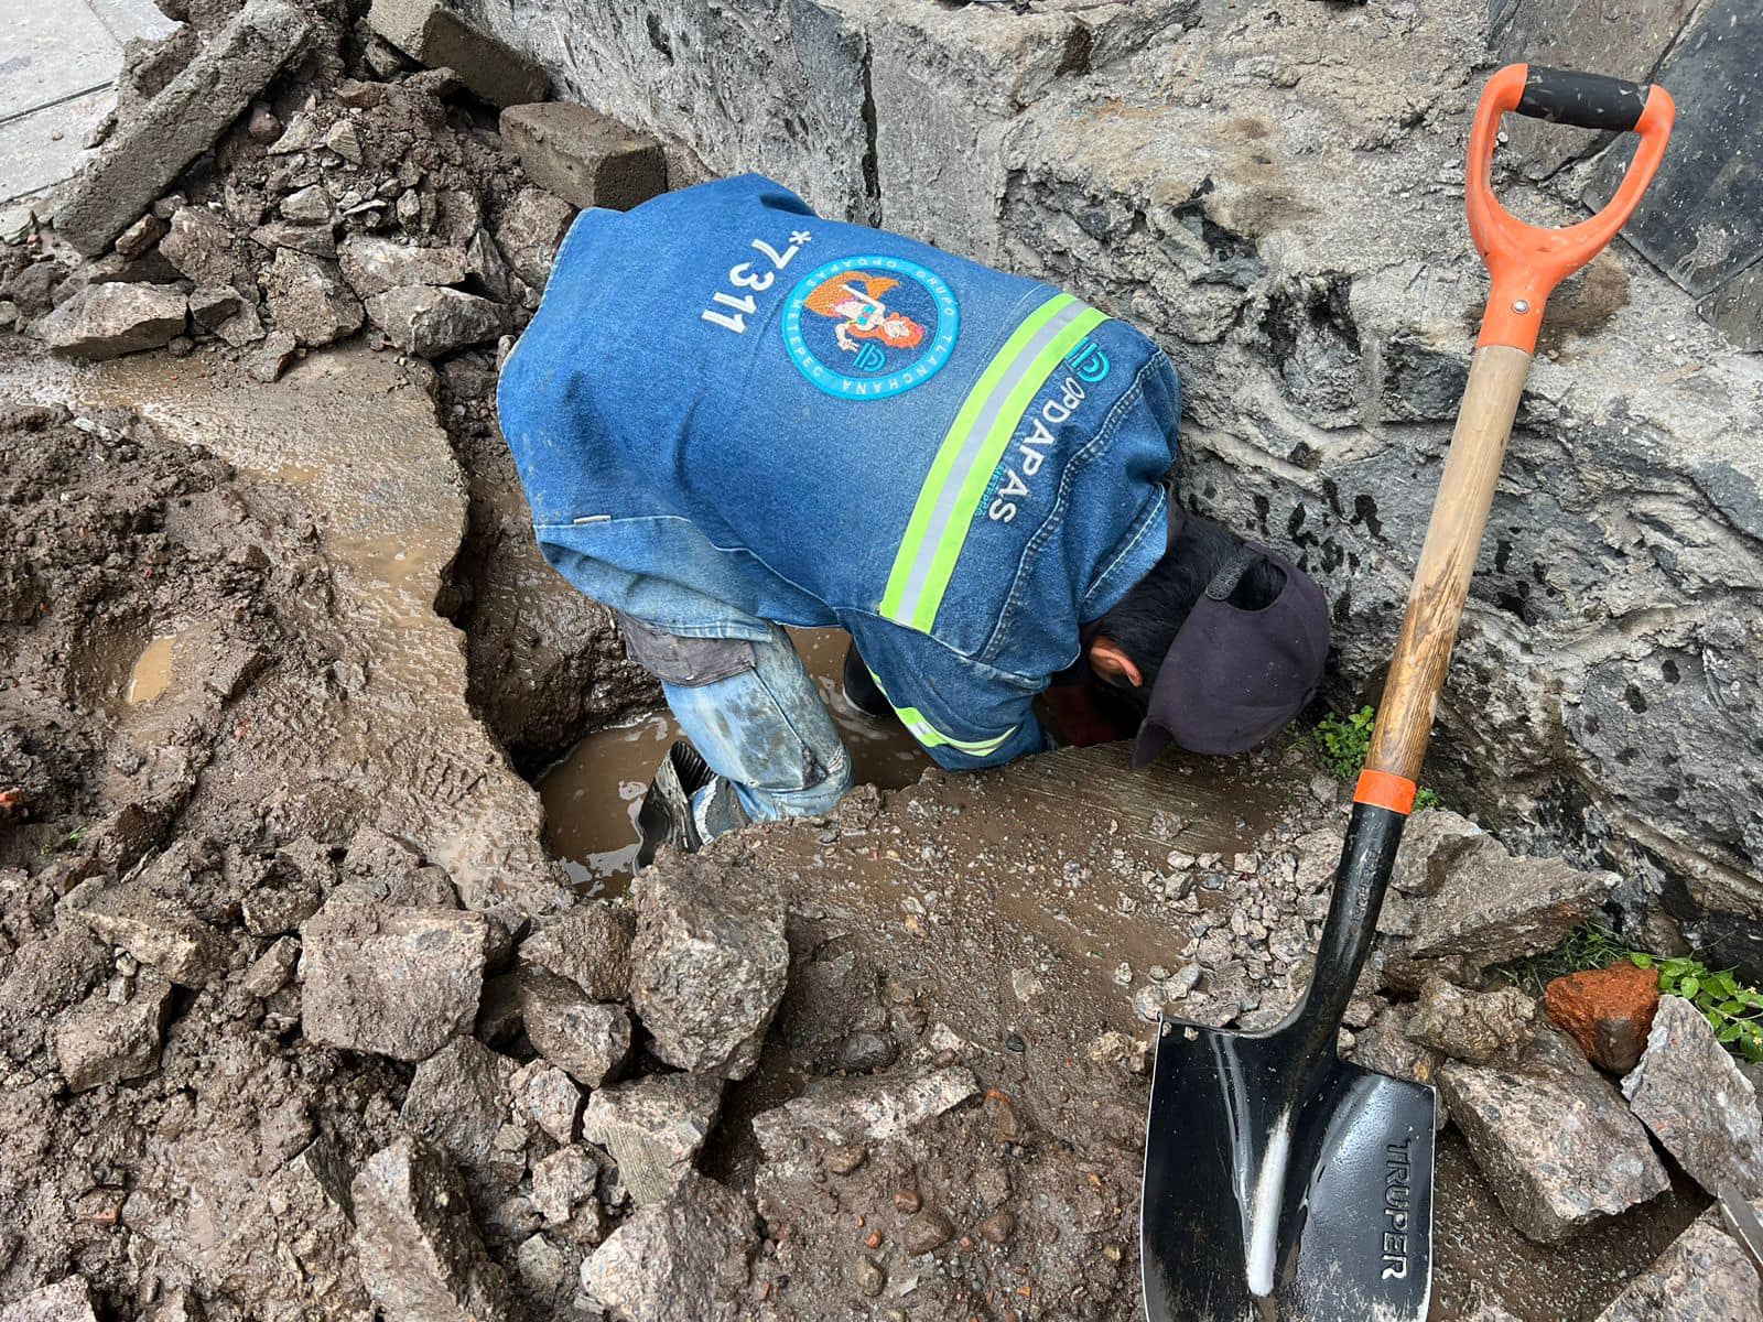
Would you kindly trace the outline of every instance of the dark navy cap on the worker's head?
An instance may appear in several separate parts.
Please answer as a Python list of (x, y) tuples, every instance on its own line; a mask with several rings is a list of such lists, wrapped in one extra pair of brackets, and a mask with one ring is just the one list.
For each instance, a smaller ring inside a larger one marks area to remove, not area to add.
[[(1285, 576), (1259, 610), (1231, 594), (1259, 561)], [(1328, 599), (1303, 569), (1266, 546), (1245, 545), (1213, 575), (1151, 686), (1132, 763), (1171, 744), (1190, 753), (1241, 753), (1291, 721), (1315, 696), (1328, 663)]]

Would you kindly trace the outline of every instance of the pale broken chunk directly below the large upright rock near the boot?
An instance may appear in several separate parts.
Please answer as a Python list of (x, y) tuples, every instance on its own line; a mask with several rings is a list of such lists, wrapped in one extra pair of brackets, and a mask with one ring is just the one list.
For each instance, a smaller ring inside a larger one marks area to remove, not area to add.
[(582, 1137), (619, 1163), (638, 1207), (663, 1202), (691, 1170), (723, 1105), (723, 1081), (668, 1073), (601, 1088), (587, 1102)]

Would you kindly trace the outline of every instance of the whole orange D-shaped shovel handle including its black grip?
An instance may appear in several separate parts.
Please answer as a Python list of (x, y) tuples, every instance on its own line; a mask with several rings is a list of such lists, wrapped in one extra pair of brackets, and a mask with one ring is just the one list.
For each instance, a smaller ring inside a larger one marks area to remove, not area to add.
[[(1507, 111), (1641, 136), (1629, 173), (1603, 212), (1562, 229), (1543, 229), (1525, 224), (1495, 201), (1493, 137)], [(1463, 180), (1469, 233), (1493, 277), (1477, 347), (1509, 344), (1525, 353), (1536, 349), (1543, 305), (1555, 286), (1603, 252), (1622, 229), (1659, 169), (1675, 116), (1671, 93), (1657, 83), (1643, 88), (1615, 78), (1521, 63), (1509, 63), (1488, 79), (1469, 130), (1469, 175)]]

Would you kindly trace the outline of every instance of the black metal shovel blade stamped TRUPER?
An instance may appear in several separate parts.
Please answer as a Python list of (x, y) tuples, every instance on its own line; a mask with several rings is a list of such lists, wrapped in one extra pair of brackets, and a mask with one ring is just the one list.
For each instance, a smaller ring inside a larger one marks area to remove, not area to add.
[(1144, 1147), (1149, 1322), (1421, 1322), (1432, 1188), (1432, 1088), (1319, 1052), (1301, 1022), (1165, 1022)]

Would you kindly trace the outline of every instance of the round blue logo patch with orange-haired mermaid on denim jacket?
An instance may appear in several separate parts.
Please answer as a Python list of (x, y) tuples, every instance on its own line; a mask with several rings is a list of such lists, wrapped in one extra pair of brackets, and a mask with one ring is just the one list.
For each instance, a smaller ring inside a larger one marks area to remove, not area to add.
[(790, 291), (783, 344), (815, 386), (882, 400), (922, 386), (956, 347), (961, 310), (934, 271), (903, 257), (839, 257)]

